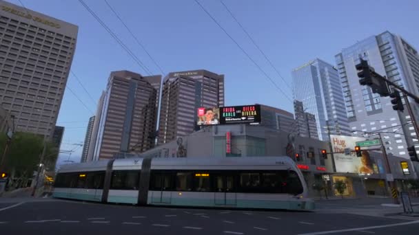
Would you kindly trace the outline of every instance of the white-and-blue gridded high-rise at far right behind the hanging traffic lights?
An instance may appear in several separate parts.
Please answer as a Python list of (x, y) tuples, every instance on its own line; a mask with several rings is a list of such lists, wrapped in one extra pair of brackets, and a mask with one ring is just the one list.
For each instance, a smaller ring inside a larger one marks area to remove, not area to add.
[[(407, 146), (418, 144), (418, 137), (411, 124), (409, 113), (392, 109), (389, 97), (380, 97), (372, 93), (368, 86), (358, 82), (355, 65), (360, 58), (367, 60), (374, 70), (411, 93), (419, 95), (419, 56), (405, 39), (383, 32), (377, 36), (369, 36), (354, 45), (342, 49), (335, 56), (336, 64), (342, 81), (345, 105), (349, 126), (355, 135), (362, 131), (388, 132), (382, 134), (387, 152), (400, 157), (409, 157)], [(414, 113), (418, 105), (411, 102)], [(401, 126), (400, 126), (401, 125)]]

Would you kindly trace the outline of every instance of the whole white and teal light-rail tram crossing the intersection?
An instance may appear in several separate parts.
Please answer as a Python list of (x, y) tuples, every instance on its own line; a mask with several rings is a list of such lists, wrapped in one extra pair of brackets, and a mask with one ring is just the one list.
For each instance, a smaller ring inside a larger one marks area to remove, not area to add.
[(70, 164), (59, 170), (53, 196), (138, 205), (314, 209), (303, 174), (289, 157)]

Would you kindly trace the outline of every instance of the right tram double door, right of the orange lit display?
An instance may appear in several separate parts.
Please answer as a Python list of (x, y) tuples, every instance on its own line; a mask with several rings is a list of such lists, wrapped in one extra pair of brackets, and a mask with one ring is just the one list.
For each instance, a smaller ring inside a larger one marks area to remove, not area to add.
[(216, 205), (236, 205), (236, 192), (234, 192), (234, 176), (228, 174), (215, 175), (214, 202)]

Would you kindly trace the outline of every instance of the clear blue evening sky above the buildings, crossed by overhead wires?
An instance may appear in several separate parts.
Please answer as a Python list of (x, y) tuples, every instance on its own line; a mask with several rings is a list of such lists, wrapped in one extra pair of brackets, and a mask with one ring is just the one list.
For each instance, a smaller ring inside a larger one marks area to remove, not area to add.
[[(21, 5), (19, 0), (8, 0)], [(136, 44), (104, 0), (84, 0), (153, 74), (158, 67)], [(287, 85), (247, 38), (221, 1), (196, 0), (214, 16), (263, 71), (239, 49), (195, 0), (107, 0), (165, 74), (207, 69), (225, 75), (225, 105), (266, 104), (294, 113), (292, 69), (334, 56), (368, 36), (389, 30), (419, 47), (419, 1), (223, 0), (263, 50)], [(79, 26), (71, 70), (57, 125), (65, 126), (58, 164), (80, 161), (89, 117), (96, 112), (111, 71), (147, 75), (77, 0), (21, 0), (26, 8)], [(283, 89), (282, 93), (264, 72)], [(163, 76), (165, 75), (163, 74)], [(304, 92), (304, 91), (302, 91)], [(92, 98), (90, 98), (90, 96)], [(81, 102), (78, 100), (81, 100)], [(83, 102), (83, 104), (82, 104)], [(88, 108), (85, 108), (84, 105)]]

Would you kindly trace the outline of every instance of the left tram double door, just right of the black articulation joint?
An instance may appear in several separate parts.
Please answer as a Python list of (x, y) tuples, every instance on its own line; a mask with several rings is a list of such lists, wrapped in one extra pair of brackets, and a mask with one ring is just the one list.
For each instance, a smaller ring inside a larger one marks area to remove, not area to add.
[(160, 192), (153, 192), (152, 202), (154, 203), (171, 203), (172, 202), (172, 177), (164, 173), (156, 173), (154, 175), (155, 188)]

